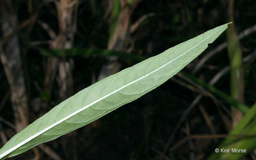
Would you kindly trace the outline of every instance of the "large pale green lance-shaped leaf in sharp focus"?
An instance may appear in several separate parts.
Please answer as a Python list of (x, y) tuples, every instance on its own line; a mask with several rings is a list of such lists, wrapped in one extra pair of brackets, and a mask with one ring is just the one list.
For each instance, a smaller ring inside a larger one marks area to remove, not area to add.
[(54, 140), (136, 100), (184, 68), (227, 27), (209, 30), (76, 93), (12, 137), (0, 149), (0, 159)]

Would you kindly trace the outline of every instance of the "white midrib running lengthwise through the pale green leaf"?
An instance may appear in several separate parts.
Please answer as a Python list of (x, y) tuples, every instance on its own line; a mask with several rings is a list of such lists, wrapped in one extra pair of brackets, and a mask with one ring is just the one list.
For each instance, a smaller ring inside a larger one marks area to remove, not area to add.
[[(216, 32), (215, 32), (215, 33), (216, 33)], [(213, 33), (211, 36), (213, 36), (215, 33)], [(206, 39), (204, 39), (203, 41), (201, 41), (199, 44), (201, 44), (202, 42), (204, 42), (205, 40), (207, 40), (207, 39), (210, 38), (211, 36), (208, 36)], [(187, 52), (191, 51), (193, 48), (196, 48), (196, 46), (198, 46), (199, 44), (196, 44), (194, 47), (192, 47), (192, 48), (190, 48), (188, 51), (182, 53), (180, 56), (183, 56), (183, 55), (186, 54)], [(24, 144), (28, 143), (30, 140), (36, 138), (37, 136), (40, 136), (40, 135), (43, 134), (44, 132), (46, 132), (46, 131), (48, 131), (49, 129), (51, 129), (51, 128), (55, 127), (56, 125), (60, 124), (60, 123), (63, 122), (64, 120), (67, 120), (68, 118), (70, 118), (70, 117), (76, 115), (77, 113), (79, 113), (79, 112), (83, 111), (84, 109), (86, 109), (86, 108), (92, 106), (93, 104), (96, 104), (96, 103), (99, 102), (100, 100), (103, 100), (104, 98), (106, 98), (106, 97), (108, 97), (108, 96), (111, 96), (112, 94), (114, 94), (114, 93), (120, 91), (121, 89), (123, 89), (123, 88), (125, 88), (125, 87), (127, 87), (127, 86), (129, 86), (129, 85), (131, 85), (131, 84), (133, 84), (133, 83), (135, 83), (135, 82), (137, 82), (137, 81), (139, 81), (139, 80), (141, 80), (141, 79), (143, 79), (143, 78), (149, 76), (149, 75), (151, 75), (152, 73), (158, 71), (159, 69), (163, 68), (164, 66), (166, 66), (166, 65), (168, 65), (168, 64), (170, 64), (170, 63), (172, 63), (174, 60), (178, 59), (180, 56), (177, 56), (175, 59), (169, 61), (168, 63), (166, 63), (166, 64), (164, 64), (164, 65), (162, 65), (161, 67), (157, 68), (156, 70), (154, 70), (154, 71), (152, 71), (152, 72), (146, 74), (145, 76), (142, 76), (142, 77), (140, 77), (139, 79), (134, 80), (134, 81), (132, 81), (132, 82), (130, 82), (130, 83), (124, 85), (123, 87), (116, 89), (115, 91), (113, 91), (113, 92), (107, 94), (106, 96), (103, 96), (103, 97), (101, 97), (101, 98), (98, 99), (98, 100), (95, 100), (95, 101), (92, 102), (91, 104), (88, 104), (87, 106), (85, 106), (85, 107), (83, 107), (83, 108), (77, 110), (76, 112), (73, 112), (72, 114), (70, 114), (70, 115), (66, 116), (65, 118), (63, 118), (63, 119), (57, 121), (56, 123), (54, 123), (54, 124), (50, 125), (49, 127), (43, 129), (42, 131), (37, 132), (37, 133), (34, 134), (33, 136), (27, 138), (26, 140), (20, 142), (20, 143), (17, 144), (16, 146), (14, 146), (14, 147), (8, 149), (6, 152), (2, 153), (2, 154), (0, 155), (0, 159), (3, 158), (3, 157), (5, 157), (5, 156), (7, 156), (9, 153), (15, 151), (16, 149), (20, 148), (20, 147), (23, 146)]]

